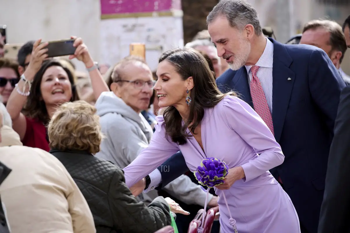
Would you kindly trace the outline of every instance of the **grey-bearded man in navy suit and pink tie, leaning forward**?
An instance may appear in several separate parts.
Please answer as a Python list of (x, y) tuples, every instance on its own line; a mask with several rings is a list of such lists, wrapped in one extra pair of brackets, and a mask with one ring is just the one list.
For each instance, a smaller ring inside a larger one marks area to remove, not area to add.
[[(285, 161), (270, 172), (292, 199), (301, 232), (316, 233), (344, 81), (323, 50), (264, 37), (257, 12), (245, 0), (221, 0), (207, 22), (218, 56), (231, 67), (217, 79), (218, 87), (235, 90), (273, 131)], [(187, 170), (180, 154), (167, 162), (163, 186)]]

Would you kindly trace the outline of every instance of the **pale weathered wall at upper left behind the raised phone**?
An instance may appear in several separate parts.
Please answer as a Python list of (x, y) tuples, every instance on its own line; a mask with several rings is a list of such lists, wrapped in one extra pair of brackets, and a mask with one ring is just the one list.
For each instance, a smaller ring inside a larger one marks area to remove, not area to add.
[[(82, 37), (100, 60), (99, 0), (1, 0), (0, 24), (7, 25), (7, 43)], [(75, 61), (78, 70), (84, 65)]]

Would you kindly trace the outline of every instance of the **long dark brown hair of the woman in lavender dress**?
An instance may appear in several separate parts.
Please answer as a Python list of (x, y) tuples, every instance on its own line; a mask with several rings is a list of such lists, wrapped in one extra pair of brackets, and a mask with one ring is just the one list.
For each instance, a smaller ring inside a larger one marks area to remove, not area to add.
[(160, 58), (170, 62), (183, 80), (193, 77), (194, 87), (191, 89), (192, 99), (187, 121), (182, 125), (182, 117), (174, 106), (169, 106), (164, 112), (165, 129), (172, 141), (179, 145), (186, 144), (186, 139), (192, 137), (186, 130), (189, 128), (192, 134), (204, 117), (205, 108), (215, 107), (226, 95), (219, 91), (215, 83), (214, 73), (210, 70), (208, 61), (203, 55), (192, 48), (172, 49), (164, 52)]

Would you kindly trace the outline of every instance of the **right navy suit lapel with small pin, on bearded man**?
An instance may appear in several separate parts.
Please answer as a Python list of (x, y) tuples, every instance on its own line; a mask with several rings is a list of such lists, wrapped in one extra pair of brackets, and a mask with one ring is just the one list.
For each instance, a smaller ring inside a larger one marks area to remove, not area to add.
[(283, 123), (286, 118), (290, 95), (295, 80), (295, 73), (289, 69), (292, 58), (284, 45), (273, 42), (272, 70), (272, 121), (275, 139), (279, 142)]

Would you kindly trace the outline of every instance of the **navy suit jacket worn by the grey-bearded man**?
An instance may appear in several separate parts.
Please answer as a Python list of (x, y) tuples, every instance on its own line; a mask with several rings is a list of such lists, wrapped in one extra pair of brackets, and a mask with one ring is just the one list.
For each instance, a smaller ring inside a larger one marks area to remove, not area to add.
[[(282, 165), (270, 172), (276, 179), (281, 177), (303, 227), (317, 232), (329, 148), (345, 83), (323, 50), (269, 39), (274, 49), (273, 128), (285, 155)], [(245, 67), (227, 70), (216, 82), (222, 92), (236, 91), (253, 108)], [(184, 166), (183, 158), (177, 158)], [(162, 173), (163, 182), (169, 175)]]

